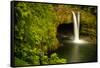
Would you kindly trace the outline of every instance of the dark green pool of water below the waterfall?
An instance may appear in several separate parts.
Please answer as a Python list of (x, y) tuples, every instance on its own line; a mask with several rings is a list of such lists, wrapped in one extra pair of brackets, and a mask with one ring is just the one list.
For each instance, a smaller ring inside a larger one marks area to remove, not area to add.
[(75, 44), (64, 41), (56, 53), (59, 57), (66, 58), (68, 63), (97, 61), (97, 47), (93, 43)]

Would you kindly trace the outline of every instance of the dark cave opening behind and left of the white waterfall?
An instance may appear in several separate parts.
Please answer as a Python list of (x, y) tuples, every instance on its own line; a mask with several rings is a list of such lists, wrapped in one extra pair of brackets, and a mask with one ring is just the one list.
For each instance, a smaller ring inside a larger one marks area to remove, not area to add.
[(74, 28), (73, 23), (63, 23), (57, 27), (57, 39), (59, 42), (63, 40), (73, 40)]

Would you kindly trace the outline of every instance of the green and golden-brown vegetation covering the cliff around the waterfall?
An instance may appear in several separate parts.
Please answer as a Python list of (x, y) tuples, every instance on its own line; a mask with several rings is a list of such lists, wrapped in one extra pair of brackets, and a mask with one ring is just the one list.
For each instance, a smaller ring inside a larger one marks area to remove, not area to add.
[(57, 26), (73, 21), (71, 11), (81, 12), (80, 34), (96, 39), (95, 7), (15, 2), (14, 9), (16, 66), (67, 63), (52, 52), (60, 47)]

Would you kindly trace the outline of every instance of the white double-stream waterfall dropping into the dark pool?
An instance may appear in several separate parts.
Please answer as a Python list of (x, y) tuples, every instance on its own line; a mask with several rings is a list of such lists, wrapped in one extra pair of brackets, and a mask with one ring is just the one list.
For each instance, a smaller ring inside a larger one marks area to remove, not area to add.
[(74, 21), (74, 40), (79, 41), (80, 13), (77, 15), (72, 11)]

